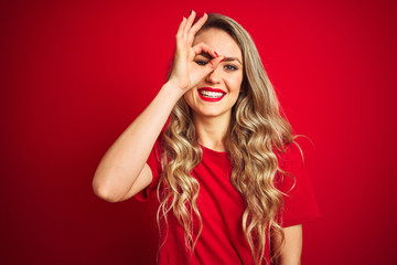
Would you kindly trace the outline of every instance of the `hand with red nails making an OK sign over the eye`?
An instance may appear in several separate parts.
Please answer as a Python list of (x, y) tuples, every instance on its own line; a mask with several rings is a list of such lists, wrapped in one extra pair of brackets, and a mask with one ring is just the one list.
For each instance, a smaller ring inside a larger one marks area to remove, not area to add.
[[(181, 88), (183, 93), (197, 85), (198, 82), (214, 71), (224, 59), (223, 56), (218, 56), (211, 46), (204, 43), (192, 46), (194, 35), (203, 26), (208, 17), (204, 13), (193, 25), (194, 18), (195, 12), (192, 11), (187, 19), (183, 18), (178, 29), (175, 57), (169, 78), (169, 83)], [(204, 66), (194, 62), (194, 57), (202, 52), (213, 57)]]

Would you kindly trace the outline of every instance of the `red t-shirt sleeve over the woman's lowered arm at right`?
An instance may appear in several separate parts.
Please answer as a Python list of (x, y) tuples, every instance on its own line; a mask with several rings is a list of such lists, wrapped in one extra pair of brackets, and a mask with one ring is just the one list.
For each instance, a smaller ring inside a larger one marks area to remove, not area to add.
[(307, 223), (321, 218), (309, 176), (299, 148), (291, 144), (279, 156), (279, 167), (287, 174), (278, 173), (276, 187), (285, 193), (285, 206), (280, 212), (282, 227)]

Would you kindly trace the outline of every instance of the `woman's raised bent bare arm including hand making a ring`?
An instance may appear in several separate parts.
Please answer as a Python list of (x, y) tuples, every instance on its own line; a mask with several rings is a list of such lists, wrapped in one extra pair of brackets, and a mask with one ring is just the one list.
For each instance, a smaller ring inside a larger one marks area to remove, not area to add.
[[(223, 57), (204, 45), (192, 47), (195, 33), (206, 21), (203, 15), (194, 25), (195, 13), (183, 19), (176, 33), (176, 51), (170, 80), (161, 87), (150, 105), (120, 135), (103, 157), (93, 180), (94, 192), (104, 200), (126, 200), (152, 181), (146, 163), (173, 106), (194, 87)], [(196, 54), (206, 52), (214, 59), (205, 67), (193, 62)]]

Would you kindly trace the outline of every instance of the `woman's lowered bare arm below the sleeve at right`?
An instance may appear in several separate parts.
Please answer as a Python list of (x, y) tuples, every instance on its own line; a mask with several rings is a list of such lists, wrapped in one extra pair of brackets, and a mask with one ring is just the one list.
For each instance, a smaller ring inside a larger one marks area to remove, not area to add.
[(302, 225), (298, 224), (285, 227), (282, 231), (285, 233), (283, 244), (279, 235), (272, 237), (272, 243), (276, 244), (276, 247), (281, 245), (281, 256), (276, 264), (300, 265), (302, 254)]

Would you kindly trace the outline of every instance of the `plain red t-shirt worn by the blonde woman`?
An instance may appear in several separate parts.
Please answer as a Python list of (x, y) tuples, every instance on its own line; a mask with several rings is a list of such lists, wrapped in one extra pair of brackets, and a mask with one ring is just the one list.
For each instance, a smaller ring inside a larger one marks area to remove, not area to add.
[[(160, 248), (159, 264), (254, 264), (250, 248), (245, 240), (242, 216), (245, 209), (243, 197), (230, 182), (232, 165), (226, 152), (203, 149), (202, 162), (193, 170), (192, 176), (200, 183), (197, 206), (201, 213), (203, 230), (196, 243), (194, 255), (185, 251), (184, 231), (172, 213), (168, 215), (169, 230), (162, 231), (161, 240), (167, 234), (164, 245)], [(161, 147), (155, 142), (149, 156), (148, 165), (152, 170), (152, 183), (138, 193), (136, 198), (144, 201), (155, 189), (161, 172)], [(291, 226), (312, 221), (320, 216), (309, 178), (302, 167), (299, 149), (291, 145), (286, 153), (279, 157), (281, 169), (297, 178), (296, 187), (291, 178), (285, 177), (277, 184), (286, 192), (282, 226)], [(280, 179), (281, 180), (281, 179)], [(162, 225), (165, 230), (165, 225)], [(162, 242), (161, 241), (161, 242)], [(267, 242), (269, 246), (269, 242)], [(269, 250), (266, 250), (269, 259)]]

